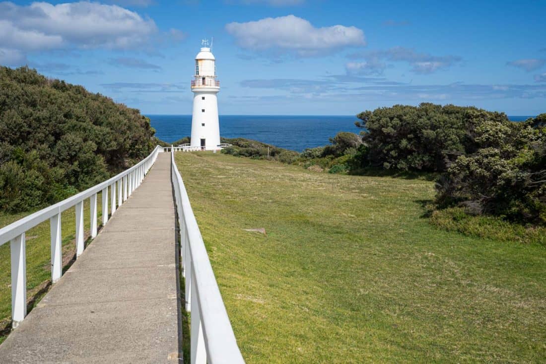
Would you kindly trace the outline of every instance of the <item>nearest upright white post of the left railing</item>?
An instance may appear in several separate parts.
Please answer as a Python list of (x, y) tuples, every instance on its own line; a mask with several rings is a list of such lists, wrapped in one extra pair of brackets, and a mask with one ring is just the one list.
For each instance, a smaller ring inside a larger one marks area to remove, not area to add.
[(19, 326), (27, 315), (27, 258), (25, 233), (11, 239), (11, 326)]

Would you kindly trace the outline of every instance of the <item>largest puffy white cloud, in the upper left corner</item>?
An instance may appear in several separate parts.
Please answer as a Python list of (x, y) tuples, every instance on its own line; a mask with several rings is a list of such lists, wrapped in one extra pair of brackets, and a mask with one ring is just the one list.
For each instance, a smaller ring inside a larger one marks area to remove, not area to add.
[(0, 3), (0, 48), (10, 54), (25, 56), (30, 51), (74, 46), (131, 49), (146, 43), (156, 32), (153, 20), (117, 5)]

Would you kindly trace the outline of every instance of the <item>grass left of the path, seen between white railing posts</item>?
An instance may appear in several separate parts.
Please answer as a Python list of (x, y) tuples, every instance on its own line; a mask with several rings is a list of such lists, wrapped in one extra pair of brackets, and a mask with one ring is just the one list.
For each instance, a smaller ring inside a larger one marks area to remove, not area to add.
[[(102, 224), (102, 193), (97, 195), (98, 218), (97, 225)], [(4, 214), (0, 213), (0, 227), (11, 224), (29, 213)], [(90, 230), (89, 199), (84, 202), (84, 230), (85, 236)], [(75, 254), (75, 209), (70, 208), (61, 215), (63, 263), (66, 264)], [(27, 258), (27, 299), (31, 300), (35, 293), (42, 289), (51, 279), (51, 242), (49, 220), (27, 231), (26, 258)], [(11, 273), (9, 242), (0, 246), (0, 330), (11, 321)], [(38, 298), (38, 297), (37, 297)], [(30, 308), (30, 307), (29, 307)], [(0, 342), (4, 337), (0, 334)]]

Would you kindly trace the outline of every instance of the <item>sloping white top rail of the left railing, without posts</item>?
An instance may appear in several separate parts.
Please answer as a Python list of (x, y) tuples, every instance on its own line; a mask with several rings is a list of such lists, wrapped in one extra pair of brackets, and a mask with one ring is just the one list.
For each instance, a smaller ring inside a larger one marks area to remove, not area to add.
[(85, 191), (76, 193), (76, 195), (63, 199), (63, 201), (57, 202), (49, 207), (43, 208), (33, 214), (26, 216), (25, 218), (19, 219), (3, 228), (0, 228), (0, 245), (3, 245), (9, 240), (19, 236), (23, 232), (33, 228), (34, 226), (40, 224), (40, 222), (46, 221), (52, 216), (55, 216), (58, 213), (63, 212), (64, 210), (73, 207), (76, 203), (83, 201), (84, 199), (91, 197), (97, 192), (102, 191), (106, 187), (110, 186), (112, 183), (118, 179), (125, 177), (127, 174), (133, 172), (136, 168), (140, 167), (145, 161), (147, 161), (153, 154), (155, 154), (159, 149), (163, 150), (163, 147), (157, 145), (155, 149), (148, 155), (146, 158), (136, 163), (136, 165), (126, 169), (125, 171), (115, 175), (114, 177), (105, 180), (102, 183), (94, 185), (93, 187), (88, 188)]

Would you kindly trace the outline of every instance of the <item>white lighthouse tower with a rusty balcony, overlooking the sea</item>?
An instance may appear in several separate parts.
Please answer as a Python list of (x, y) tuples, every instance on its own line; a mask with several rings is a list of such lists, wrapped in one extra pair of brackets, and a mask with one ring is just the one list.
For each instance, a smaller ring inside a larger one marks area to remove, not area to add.
[(220, 81), (216, 80), (215, 58), (209, 42), (203, 40), (201, 51), (195, 56), (195, 79), (192, 80), (192, 150), (220, 149), (218, 100)]

